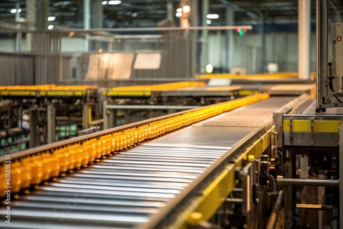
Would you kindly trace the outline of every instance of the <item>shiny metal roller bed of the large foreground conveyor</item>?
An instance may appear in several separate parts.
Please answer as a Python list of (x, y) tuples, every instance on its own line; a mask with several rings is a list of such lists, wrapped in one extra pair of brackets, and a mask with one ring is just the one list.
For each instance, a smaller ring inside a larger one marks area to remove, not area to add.
[[(293, 97), (270, 97), (200, 121), (35, 186), (0, 228), (161, 228)], [(234, 183), (234, 181), (233, 181)], [(5, 208), (1, 206), (3, 217)]]

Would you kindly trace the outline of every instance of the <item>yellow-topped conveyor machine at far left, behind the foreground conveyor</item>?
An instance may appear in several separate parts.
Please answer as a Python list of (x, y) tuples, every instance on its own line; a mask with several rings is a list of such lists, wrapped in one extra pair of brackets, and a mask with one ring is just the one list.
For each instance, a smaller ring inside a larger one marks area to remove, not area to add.
[[(18, 145), (19, 150), (21, 143), (35, 147), (78, 136), (78, 130), (89, 128), (94, 117), (91, 110), (97, 101), (97, 87), (1, 86), (0, 99), (6, 104), (0, 107), (0, 113), (8, 114), (0, 120), (3, 124), (0, 138), (7, 142), (1, 146), (9, 152), (12, 145)], [(72, 125), (75, 125), (73, 133), (67, 130)], [(23, 139), (24, 134), (30, 134), (30, 138)]]

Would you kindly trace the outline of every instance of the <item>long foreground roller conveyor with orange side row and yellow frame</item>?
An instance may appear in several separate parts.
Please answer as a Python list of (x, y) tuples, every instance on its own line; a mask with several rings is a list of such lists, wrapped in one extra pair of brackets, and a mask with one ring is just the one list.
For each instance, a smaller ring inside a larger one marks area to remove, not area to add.
[(270, 173), (270, 155), (281, 160), (272, 113), (304, 97), (252, 95), (3, 156), (13, 221), (0, 225), (265, 226), (260, 214), (282, 195)]

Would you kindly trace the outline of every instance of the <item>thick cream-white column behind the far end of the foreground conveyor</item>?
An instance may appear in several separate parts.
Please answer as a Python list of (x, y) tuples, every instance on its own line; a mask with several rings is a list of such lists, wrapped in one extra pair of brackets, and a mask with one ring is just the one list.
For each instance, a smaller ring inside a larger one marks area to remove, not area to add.
[(299, 79), (309, 79), (311, 0), (298, 0), (298, 72)]

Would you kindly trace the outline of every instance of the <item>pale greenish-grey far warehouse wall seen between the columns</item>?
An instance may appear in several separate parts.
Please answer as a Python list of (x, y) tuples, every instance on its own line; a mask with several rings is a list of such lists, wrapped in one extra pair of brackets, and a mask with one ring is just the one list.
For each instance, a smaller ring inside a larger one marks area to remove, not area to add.
[[(209, 34), (209, 63), (214, 68), (226, 69), (226, 40), (225, 32), (211, 32)], [(248, 33), (243, 37), (235, 35), (235, 51), (233, 67), (246, 68), (247, 47), (259, 49), (257, 33)], [(22, 50), (26, 50), (26, 40), (22, 40)], [(62, 38), (62, 51), (80, 52), (84, 49), (84, 40), (81, 38)], [(14, 38), (0, 38), (0, 52), (16, 50)], [(311, 33), (311, 71), (316, 67), (316, 34)], [(258, 62), (257, 56), (253, 58)], [(265, 67), (269, 62), (279, 64), (279, 71), (298, 70), (298, 33), (275, 32), (265, 34)]]

